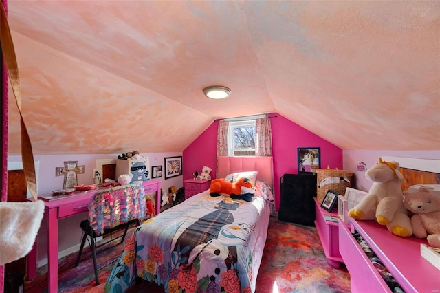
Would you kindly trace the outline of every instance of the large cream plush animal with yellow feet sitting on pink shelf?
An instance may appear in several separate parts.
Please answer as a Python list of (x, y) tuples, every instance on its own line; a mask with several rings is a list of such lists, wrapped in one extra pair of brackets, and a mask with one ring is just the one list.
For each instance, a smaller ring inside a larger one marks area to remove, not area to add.
[(379, 158), (379, 162), (365, 173), (373, 182), (369, 193), (348, 214), (353, 219), (375, 219), (394, 235), (408, 237), (412, 235), (412, 226), (401, 191), (400, 180), (404, 178), (398, 168), (398, 162), (385, 162)]

